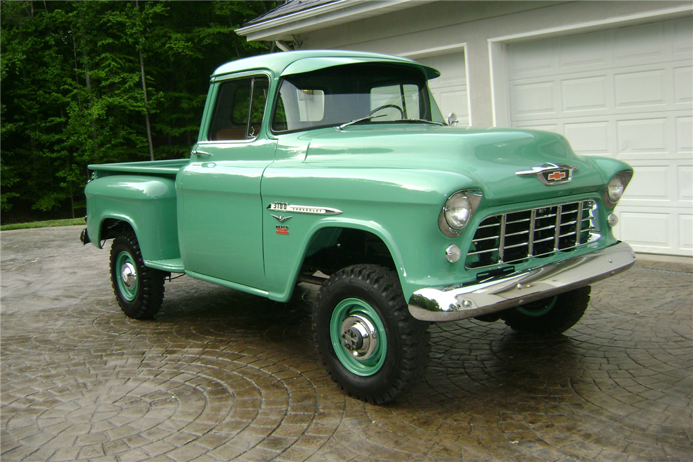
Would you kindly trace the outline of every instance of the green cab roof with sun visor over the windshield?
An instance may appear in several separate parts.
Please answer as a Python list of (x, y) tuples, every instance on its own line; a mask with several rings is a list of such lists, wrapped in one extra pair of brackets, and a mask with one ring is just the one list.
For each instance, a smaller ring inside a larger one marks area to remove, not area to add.
[(424, 66), (423, 64), (419, 64), (405, 57), (360, 51), (308, 50), (270, 53), (227, 62), (219, 66), (212, 73), (211, 80), (227, 76), (230, 73), (252, 71), (255, 69), (267, 69), (272, 71), (275, 75), (291, 75), (358, 62), (380, 62), (412, 66), (423, 71), (423, 74), (426, 75), (426, 78), (429, 80), (437, 78), (440, 75), (439, 71), (432, 67)]

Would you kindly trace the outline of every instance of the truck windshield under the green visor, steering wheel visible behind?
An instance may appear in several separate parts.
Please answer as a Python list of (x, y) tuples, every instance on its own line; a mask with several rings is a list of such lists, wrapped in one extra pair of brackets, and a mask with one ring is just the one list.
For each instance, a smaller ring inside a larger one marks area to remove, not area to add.
[(272, 114), (273, 132), (358, 123), (442, 123), (419, 69), (347, 64), (288, 75)]

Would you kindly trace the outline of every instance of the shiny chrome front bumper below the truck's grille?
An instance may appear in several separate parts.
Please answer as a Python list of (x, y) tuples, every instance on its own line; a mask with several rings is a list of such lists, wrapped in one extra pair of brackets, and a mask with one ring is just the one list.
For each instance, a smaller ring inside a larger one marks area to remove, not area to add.
[(625, 242), (559, 263), (460, 287), (426, 287), (409, 299), (409, 312), (422, 321), (456, 321), (515, 308), (590, 285), (629, 269), (635, 254)]

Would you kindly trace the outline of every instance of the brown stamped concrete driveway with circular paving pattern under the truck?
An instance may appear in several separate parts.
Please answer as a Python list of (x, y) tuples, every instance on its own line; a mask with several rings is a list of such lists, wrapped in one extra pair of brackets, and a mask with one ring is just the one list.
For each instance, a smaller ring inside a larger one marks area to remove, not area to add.
[(371, 406), (319, 364), (313, 287), (282, 304), (184, 276), (134, 321), (79, 231), (0, 234), (3, 462), (693, 459), (690, 267), (596, 284), (548, 339), (432, 325), (425, 380)]

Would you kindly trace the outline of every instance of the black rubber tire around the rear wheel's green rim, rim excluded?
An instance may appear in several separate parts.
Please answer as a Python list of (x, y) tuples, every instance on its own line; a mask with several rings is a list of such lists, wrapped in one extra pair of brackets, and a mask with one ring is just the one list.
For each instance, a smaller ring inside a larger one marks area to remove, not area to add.
[[(134, 260), (137, 268), (138, 287), (137, 294), (132, 301), (121, 294), (118, 278), (119, 268), (116, 268), (116, 260), (122, 251), (127, 251)], [(121, 310), (133, 319), (149, 319), (154, 317), (164, 302), (164, 280), (166, 273), (159, 269), (153, 269), (144, 265), (139, 242), (132, 229), (121, 232), (113, 240), (110, 254), (111, 283), (113, 292)]]

